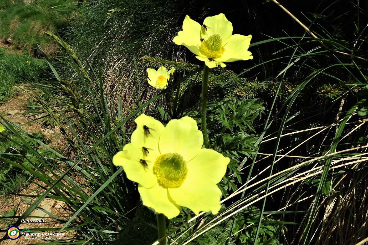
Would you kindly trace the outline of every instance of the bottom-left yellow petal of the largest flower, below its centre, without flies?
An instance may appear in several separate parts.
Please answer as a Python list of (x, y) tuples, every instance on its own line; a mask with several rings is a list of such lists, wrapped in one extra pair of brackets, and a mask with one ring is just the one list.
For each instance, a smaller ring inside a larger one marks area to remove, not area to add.
[(157, 213), (163, 213), (168, 219), (179, 215), (181, 207), (173, 202), (167, 189), (162, 188), (158, 183), (149, 189), (138, 185), (138, 191), (143, 205), (153, 208)]

